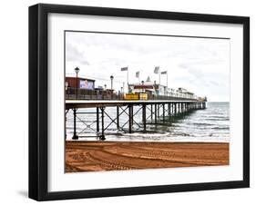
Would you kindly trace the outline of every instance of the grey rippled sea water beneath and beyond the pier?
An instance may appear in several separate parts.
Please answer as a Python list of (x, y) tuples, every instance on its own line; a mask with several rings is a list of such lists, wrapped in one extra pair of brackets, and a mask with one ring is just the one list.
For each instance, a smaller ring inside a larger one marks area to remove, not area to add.
[[(147, 109), (147, 132), (142, 130), (142, 114), (134, 107), (136, 123), (133, 124), (132, 133), (128, 133), (128, 115), (123, 112), (119, 118), (123, 130), (117, 130), (115, 119), (117, 108), (106, 108), (105, 127), (112, 122), (105, 131), (105, 141), (122, 142), (230, 142), (230, 102), (207, 102), (206, 109), (196, 110), (178, 117), (168, 117), (165, 121), (159, 119), (159, 123), (151, 121), (150, 111)], [(148, 107), (149, 108), (149, 107)], [(160, 112), (162, 110), (160, 109)], [(96, 108), (78, 109), (77, 135), (79, 141), (98, 141), (96, 132)], [(84, 113), (89, 112), (89, 113)], [(122, 112), (120, 110), (119, 112)], [(126, 111), (128, 112), (128, 111)], [(109, 117), (110, 118), (109, 118)], [(127, 123), (126, 123), (127, 122)], [(67, 140), (72, 140), (74, 117), (72, 110), (67, 112)], [(101, 125), (101, 122), (99, 122)], [(101, 130), (101, 127), (100, 127)]]

